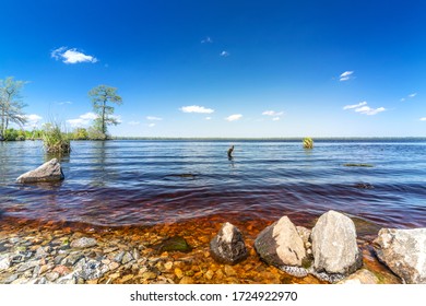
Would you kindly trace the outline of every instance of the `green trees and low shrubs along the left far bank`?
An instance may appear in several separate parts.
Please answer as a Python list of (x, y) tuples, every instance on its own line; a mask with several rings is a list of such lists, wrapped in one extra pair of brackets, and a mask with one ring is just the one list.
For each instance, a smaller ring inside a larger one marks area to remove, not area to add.
[[(117, 94), (116, 87), (98, 85), (88, 91), (93, 110), (97, 114), (88, 129), (75, 128), (72, 132), (67, 132), (59, 122), (52, 121), (44, 123), (40, 129), (24, 130), (27, 118), (23, 108), (27, 105), (23, 102), (21, 92), (26, 83), (14, 80), (13, 76), (0, 80), (0, 141), (43, 139), (48, 148), (49, 143), (46, 141), (57, 144), (60, 141), (69, 143), (70, 140), (107, 140), (110, 139), (108, 126), (119, 123), (111, 116), (115, 110), (111, 104), (121, 105), (121, 96)], [(17, 125), (19, 129), (10, 128), (11, 123)]]

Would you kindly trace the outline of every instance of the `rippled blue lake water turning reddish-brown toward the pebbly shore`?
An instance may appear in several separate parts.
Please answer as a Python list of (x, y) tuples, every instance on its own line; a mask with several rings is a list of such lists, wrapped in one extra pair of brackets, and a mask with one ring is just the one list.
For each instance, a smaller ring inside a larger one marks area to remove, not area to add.
[(300, 141), (75, 141), (62, 183), (15, 184), (48, 160), (39, 141), (0, 142), (0, 217), (144, 226), (286, 214), (304, 225), (332, 209), (380, 227), (426, 226), (426, 140), (318, 140), (310, 151)]

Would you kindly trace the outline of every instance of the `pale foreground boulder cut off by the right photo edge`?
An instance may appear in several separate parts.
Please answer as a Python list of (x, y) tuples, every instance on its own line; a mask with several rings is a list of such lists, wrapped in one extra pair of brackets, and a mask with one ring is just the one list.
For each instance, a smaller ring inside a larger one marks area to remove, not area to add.
[(382, 228), (375, 244), (379, 259), (405, 283), (426, 284), (426, 228)]

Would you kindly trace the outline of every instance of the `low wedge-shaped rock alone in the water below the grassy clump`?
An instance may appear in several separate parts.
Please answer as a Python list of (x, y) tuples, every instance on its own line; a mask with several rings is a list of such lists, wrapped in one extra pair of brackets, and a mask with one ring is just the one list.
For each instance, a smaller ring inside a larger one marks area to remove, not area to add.
[(57, 158), (52, 158), (44, 163), (38, 168), (24, 173), (19, 178), (17, 183), (40, 183), (40, 181), (58, 181), (63, 179), (62, 167)]

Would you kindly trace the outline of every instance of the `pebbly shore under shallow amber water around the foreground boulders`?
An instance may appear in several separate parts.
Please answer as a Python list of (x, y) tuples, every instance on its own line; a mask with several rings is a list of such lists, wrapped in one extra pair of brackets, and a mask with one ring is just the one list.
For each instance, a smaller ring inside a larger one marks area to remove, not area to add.
[[(273, 225), (271, 222), (236, 222), (247, 252), (237, 262), (217, 260), (211, 243), (224, 224), (223, 219), (205, 219), (144, 228), (79, 228), (68, 224), (20, 223), (3, 217), (0, 283), (330, 283), (330, 279), (315, 273), (295, 276), (292, 266), (275, 267), (261, 259), (255, 248), (256, 239), (265, 227)], [(371, 242), (357, 239), (357, 246), (363, 266), (343, 282), (404, 283), (377, 260)], [(335, 281), (341, 279), (331, 280)]]

